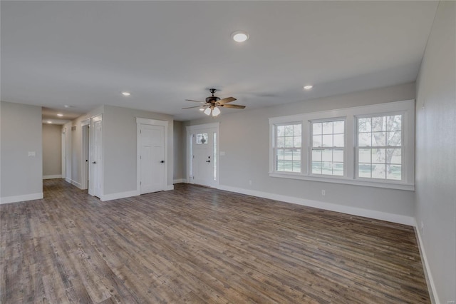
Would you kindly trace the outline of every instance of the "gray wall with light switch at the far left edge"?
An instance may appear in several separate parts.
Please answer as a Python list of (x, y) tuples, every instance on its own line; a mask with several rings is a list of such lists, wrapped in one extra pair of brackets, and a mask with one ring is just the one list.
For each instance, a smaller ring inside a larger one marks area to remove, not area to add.
[(42, 198), (41, 107), (1, 101), (0, 112), (1, 202)]

